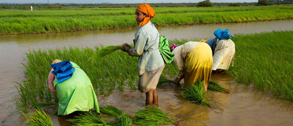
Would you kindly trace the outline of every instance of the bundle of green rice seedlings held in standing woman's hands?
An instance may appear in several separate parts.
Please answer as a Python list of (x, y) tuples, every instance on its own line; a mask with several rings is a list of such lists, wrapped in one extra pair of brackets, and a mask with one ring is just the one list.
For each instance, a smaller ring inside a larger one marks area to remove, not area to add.
[(90, 57), (86, 62), (88, 62), (91, 59), (96, 58), (96, 57), (104, 57), (104, 56), (106, 56), (108, 54), (111, 54), (112, 52), (114, 52), (116, 50), (120, 50), (122, 48), (123, 48), (122, 45), (115, 45), (115, 46), (110, 45), (110, 46), (107, 46), (107, 47), (103, 47), (95, 55)]

